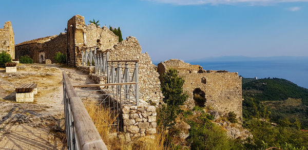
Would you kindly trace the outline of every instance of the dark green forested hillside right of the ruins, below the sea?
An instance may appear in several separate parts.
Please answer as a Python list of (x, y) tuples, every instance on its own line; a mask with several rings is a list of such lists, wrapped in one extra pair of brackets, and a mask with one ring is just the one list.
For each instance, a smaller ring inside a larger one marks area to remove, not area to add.
[[(308, 127), (308, 89), (297, 86), (285, 79), (259, 79), (243, 78), (243, 118), (254, 116), (254, 104), (259, 109), (267, 108), (271, 111), (272, 122), (278, 123), (280, 119), (296, 118), (302, 127)], [(254, 104), (253, 104), (254, 103)]]

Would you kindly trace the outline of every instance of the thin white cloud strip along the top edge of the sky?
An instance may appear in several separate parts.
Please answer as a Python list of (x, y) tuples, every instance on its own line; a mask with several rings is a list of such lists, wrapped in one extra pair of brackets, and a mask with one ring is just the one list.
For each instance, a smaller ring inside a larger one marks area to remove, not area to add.
[(248, 3), (256, 4), (275, 4), (275, 3), (292, 3), (292, 2), (308, 2), (308, 0), (146, 0), (165, 4), (174, 5), (218, 5), (218, 4), (238, 4)]

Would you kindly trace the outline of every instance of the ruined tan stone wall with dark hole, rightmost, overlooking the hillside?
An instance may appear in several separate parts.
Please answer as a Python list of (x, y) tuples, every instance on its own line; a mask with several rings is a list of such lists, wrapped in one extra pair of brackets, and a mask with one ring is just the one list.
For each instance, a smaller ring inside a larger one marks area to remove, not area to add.
[(169, 68), (177, 69), (185, 80), (183, 90), (189, 96), (185, 109), (194, 108), (197, 104), (194, 95), (199, 95), (205, 98), (204, 107), (208, 110), (218, 111), (220, 116), (234, 111), (238, 120), (242, 120), (242, 78), (237, 72), (204, 70), (200, 65), (168, 60), (158, 64), (160, 77)]

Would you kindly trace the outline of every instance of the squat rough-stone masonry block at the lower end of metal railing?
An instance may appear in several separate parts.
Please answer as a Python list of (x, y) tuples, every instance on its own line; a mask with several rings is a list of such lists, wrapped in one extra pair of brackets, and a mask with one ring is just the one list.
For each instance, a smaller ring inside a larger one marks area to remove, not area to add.
[(126, 141), (156, 133), (156, 107), (122, 105), (123, 131)]

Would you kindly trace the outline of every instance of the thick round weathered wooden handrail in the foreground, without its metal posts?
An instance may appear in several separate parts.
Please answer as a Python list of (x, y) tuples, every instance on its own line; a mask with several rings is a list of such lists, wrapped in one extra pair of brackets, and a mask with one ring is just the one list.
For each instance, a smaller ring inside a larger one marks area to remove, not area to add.
[(83, 102), (78, 97), (65, 71), (63, 71), (65, 91), (70, 103), (71, 113), (74, 120), (74, 128), (81, 149), (107, 149), (98, 129), (95, 127)]

